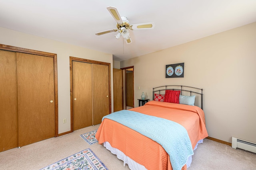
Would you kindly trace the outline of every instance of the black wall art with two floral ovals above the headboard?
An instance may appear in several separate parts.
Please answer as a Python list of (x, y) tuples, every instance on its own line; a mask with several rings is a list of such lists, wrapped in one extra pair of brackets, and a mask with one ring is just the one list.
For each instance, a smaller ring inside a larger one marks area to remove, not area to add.
[(166, 65), (165, 78), (174, 77), (184, 77), (184, 63)]

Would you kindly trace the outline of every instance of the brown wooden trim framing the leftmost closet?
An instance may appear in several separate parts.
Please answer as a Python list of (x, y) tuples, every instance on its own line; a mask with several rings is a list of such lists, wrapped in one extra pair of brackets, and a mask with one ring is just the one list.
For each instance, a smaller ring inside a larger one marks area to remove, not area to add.
[(53, 58), (53, 66), (54, 66), (54, 105), (55, 105), (55, 137), (58, 137), (58, 71), (57, 71), (57, 54), (47, 53), (44, 51), (37, 51), (32, 49), (25, 49), (21, 47), (15, 47), (10, 45), (0, 44), (1, 50), (12, 51), (12, 52), (20, 52), (27, 54), (40, 55), (45, 57)]

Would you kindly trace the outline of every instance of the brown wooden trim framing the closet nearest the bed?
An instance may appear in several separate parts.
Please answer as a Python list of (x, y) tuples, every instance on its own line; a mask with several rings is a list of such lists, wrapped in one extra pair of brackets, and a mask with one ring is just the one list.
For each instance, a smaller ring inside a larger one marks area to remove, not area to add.
[[(108, 66), (108, 89), (109, 89), (109, 114), (111, 113), (111, 70), (110, 70), (110, 63), (105, 63), (101, 61), (94, 61), (88, 59), (81, 59), (77, 57), (69, 57), (69, 66), (70, 66), (70, 131), (66, 133), (73, 132), (73, 73), (72, 73), (72, 61), (78, 61), (83, 63), (92, 63), (92, 64), (101, 64)], [(65, 134), (66, 134), (65, 133)]]

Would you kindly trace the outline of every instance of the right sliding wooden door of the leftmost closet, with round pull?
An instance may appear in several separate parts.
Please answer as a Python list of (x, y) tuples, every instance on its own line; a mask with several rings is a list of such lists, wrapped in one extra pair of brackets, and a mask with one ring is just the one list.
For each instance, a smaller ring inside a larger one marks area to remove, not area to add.
[(54, 137), (54, 59), (17, 53), (18, 146)]

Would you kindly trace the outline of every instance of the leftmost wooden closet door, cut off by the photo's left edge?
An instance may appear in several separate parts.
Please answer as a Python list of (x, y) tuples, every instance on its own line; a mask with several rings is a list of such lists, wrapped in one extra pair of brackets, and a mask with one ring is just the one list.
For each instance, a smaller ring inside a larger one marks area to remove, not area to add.
[(0, 152), (18, 147), (16, 53), (0, 50)]

